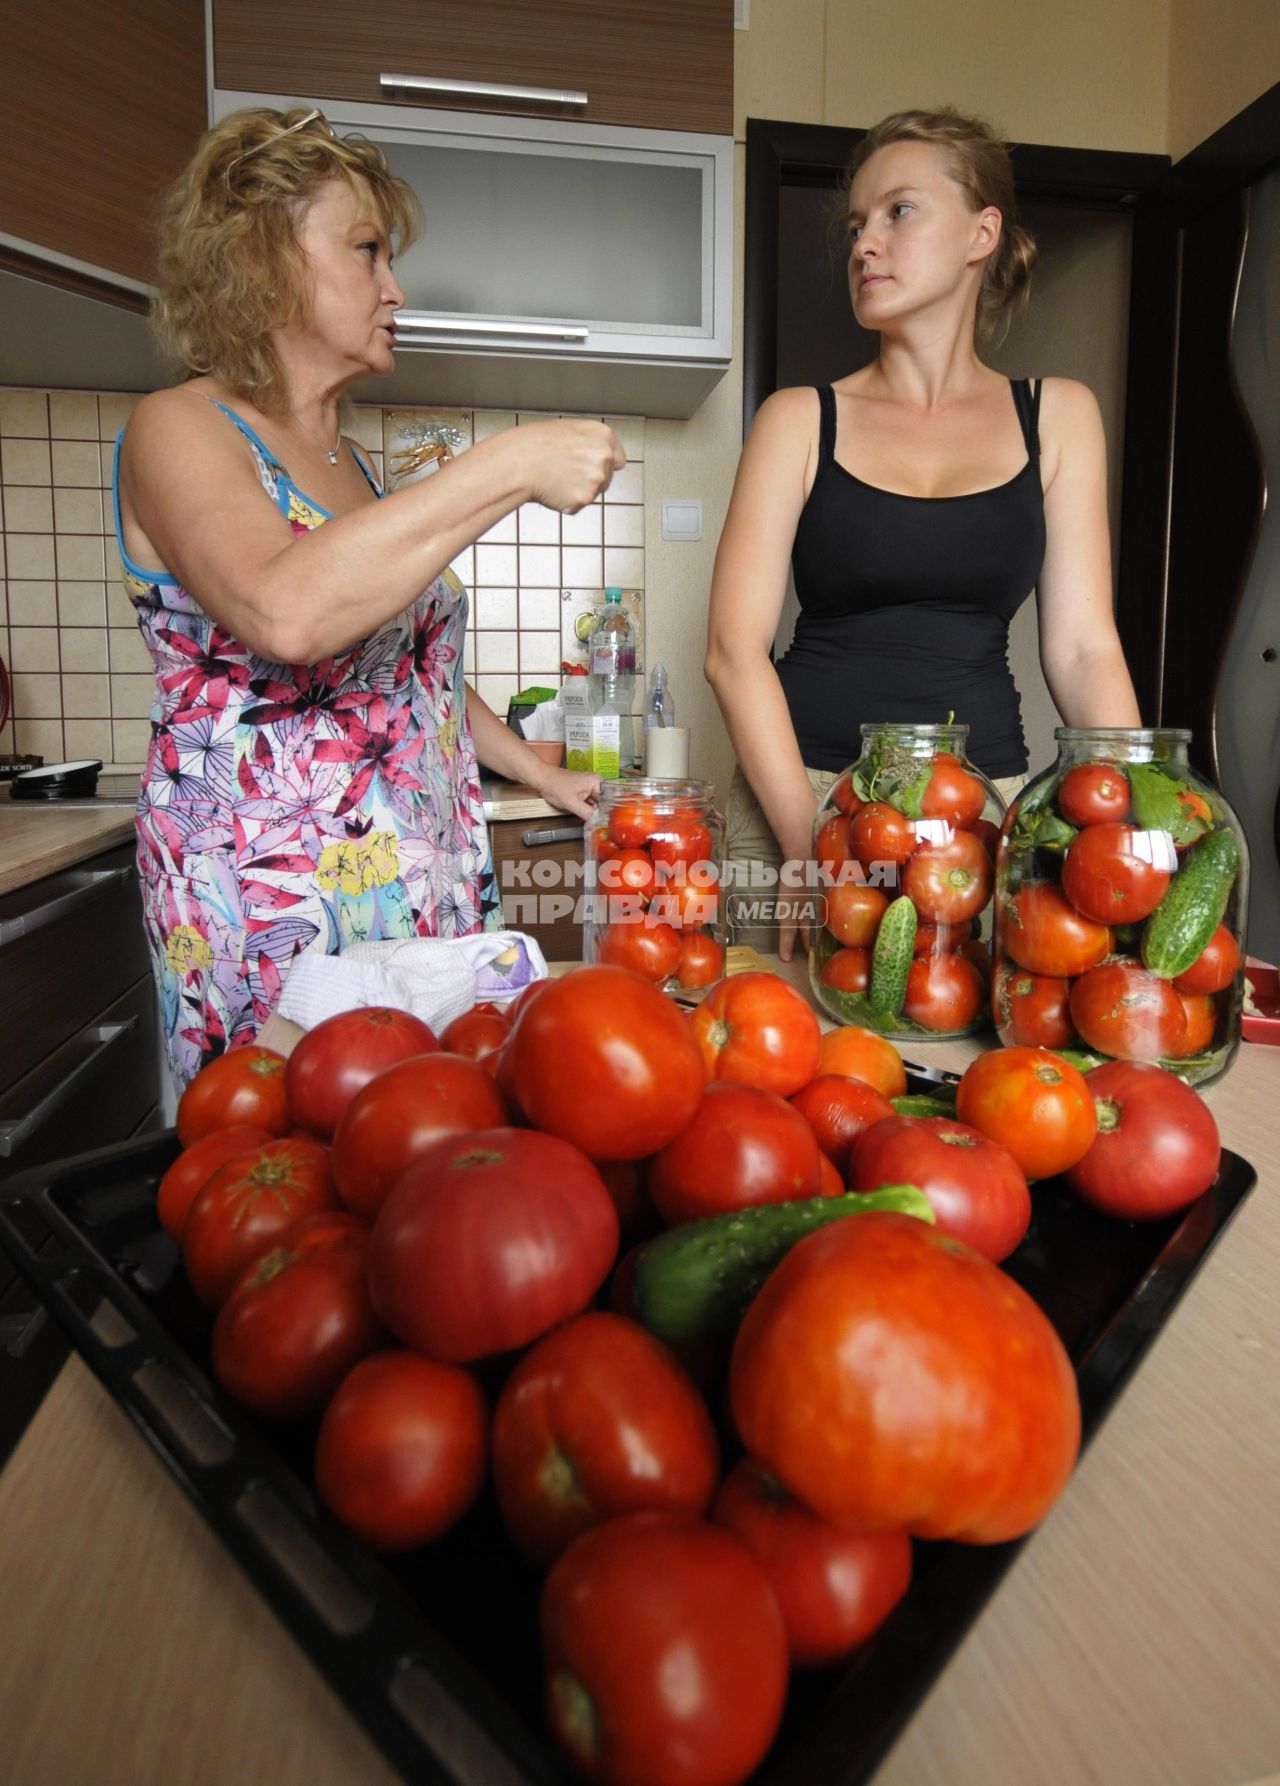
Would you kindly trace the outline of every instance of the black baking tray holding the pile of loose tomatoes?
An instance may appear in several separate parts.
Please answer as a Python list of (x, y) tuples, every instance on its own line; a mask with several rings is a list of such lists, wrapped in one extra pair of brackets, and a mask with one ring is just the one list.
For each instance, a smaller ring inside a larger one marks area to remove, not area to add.
[[(912, 1091), (955, 1075), (912, 1070)], [(282, 1623), (405, 1781), (566, 1786), (541, 1715), (537, 1577), (486, 1491), (443, 1540), (378, 1559), (309, 1488), (314, 1429), (257, 1423), (211, 1382), (211, 1316), (155, 1222), (171, 1131), (0, 1188), (0, 1243)], [(1076, 1368), (1084, 1440), (1255, 1182), (1225, 1152), (1191, 1209), (1125, 1223), (1064, 1186), (1034, 1191), (1005, 1261)], [(869, 1781), (1021, 1543), (916, 1541), (907, 1597), (848, 1666), (794, 1673), (757, 1786)]]

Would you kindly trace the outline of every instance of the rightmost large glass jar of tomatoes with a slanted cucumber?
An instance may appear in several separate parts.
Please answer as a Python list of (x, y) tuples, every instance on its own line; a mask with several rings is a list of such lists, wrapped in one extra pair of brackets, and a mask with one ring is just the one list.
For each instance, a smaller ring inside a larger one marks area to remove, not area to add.
[(1159, 1061), (1193, 1084), (1241, 1036), (1248, 850), (1178, 729), (1059, 727), (996, 861), (1000, 1039), (1080, 1066)]

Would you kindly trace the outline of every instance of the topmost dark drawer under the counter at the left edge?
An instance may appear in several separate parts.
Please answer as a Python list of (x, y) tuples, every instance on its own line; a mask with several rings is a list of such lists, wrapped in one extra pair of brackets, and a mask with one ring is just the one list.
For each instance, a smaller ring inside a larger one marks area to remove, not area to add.
[(132, 845), (0, 897), (0, 1093), (145, 975)]

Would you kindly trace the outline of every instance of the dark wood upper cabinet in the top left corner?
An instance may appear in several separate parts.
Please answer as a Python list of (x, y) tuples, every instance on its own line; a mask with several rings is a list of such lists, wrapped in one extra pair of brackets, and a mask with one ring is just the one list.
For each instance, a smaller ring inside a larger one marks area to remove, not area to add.
[(207, 123), (202, 0), (0, 0), (0, 234), (29, 245), (4, 263), (150, 284), (157, 196)]

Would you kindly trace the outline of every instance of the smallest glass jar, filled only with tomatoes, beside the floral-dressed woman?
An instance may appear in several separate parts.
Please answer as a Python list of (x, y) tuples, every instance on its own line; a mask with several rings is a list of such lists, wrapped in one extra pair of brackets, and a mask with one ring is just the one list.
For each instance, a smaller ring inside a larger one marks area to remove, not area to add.
[(725, 972), (719, 900), (725, 820), (703, 780), (605, 780), (586, 832), (582, 959), (659, 986)]

